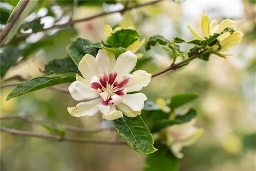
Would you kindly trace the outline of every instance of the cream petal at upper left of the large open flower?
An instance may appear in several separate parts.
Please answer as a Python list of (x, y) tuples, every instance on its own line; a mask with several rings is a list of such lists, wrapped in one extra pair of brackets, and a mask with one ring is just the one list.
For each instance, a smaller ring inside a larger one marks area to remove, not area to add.
[(90, 54), (86, 54), (82, 57), (78, 65), (78, 69), (83, 78), (85, 78), (87, 81), (90, 81), (93, 76), (99, 76), (95, 58)]

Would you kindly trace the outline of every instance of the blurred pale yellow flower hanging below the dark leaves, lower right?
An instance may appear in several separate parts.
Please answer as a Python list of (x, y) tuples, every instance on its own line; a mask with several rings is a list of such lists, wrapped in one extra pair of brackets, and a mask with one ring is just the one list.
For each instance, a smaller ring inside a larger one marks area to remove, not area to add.
[(177, 158), (182, 158), (183, 154), (180, 152), (183, 146), (189, 146), (197, 141), (202, 135), (203, 129), (196, 128), (194, 125), (196, 119), (192, 119), (188, 123), (173, 125), (167, 130), (167, 145)]

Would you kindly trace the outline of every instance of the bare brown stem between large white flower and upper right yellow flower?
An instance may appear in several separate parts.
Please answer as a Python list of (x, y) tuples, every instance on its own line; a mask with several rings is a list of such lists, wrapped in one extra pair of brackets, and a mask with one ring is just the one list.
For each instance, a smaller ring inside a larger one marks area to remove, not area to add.
[(176, 69), (178, 69), (181, 65), (183, 65), (183, 64), (185, 64), (186, 62), (189, 62), (189, 61), (191, 61), (191, 60), (193, 60), (193, 59), (196, 59), (197, 57), (199, 57), (200, 55), (202, 55), (202, 54), (203, 54), (204, 52), (206, 52), (206, 51), (207, 51), (207, 49), (201, 51), (200, 53), (198, 53), (198, 54), (196, 54), (196, 55), (193, 55), (193, 56), (189, 57), (188, 59), (186, 59), (186, 60), (184, 60), (184, 61), (181, 61), (181, 62), (176, 63), (176, 64), (172, 64), (172, 65), (170, 65), (170, 66), (168, 66), (168, 67), (166, 67), (166, 68), (164, 68), (164, 69), (162, 69), (162, 70), (156, 72), (155, 74), (153, 74), (153, 75), (152, 75), (152, 78), (153, 78), (153, 77), (156, 77), (156, 76), (159, 76), (159, 75), (161, 75), (161, 74), (164, 74), (165, 72), (167, 72), (167, 71), (169, 71), (169, 70), (176, 70)]

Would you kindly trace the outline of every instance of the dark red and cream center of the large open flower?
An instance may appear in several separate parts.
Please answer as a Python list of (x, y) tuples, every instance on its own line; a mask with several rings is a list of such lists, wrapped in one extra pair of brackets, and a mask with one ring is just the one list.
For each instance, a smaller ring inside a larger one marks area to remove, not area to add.
[(121, 102), (119, 95), (126, 94), (126, 88), (124, 87), (129, 83), (129, 78), (123, 77), (121, 81), (118, 81), (116, 77), (117, 72), (110, 72), (109, 75), (103, 74), (100, 79), (92, 79), (91, 87), (99, 93), (103, 101), (102, 105), (108, 105), (109, 103), (117, 105)]

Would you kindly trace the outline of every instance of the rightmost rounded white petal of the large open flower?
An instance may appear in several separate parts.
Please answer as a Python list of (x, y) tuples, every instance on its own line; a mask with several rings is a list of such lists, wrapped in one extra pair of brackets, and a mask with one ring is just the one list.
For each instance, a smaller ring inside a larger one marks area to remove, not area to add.
[(144, 70), (136, 70), (133, 72), (133, 77), (130, 77), (131, 81), (125, 87), (127, 92), (140, 91), (142, 87), (146, 87), (150, 84), (151, 74), (148, 74)]

